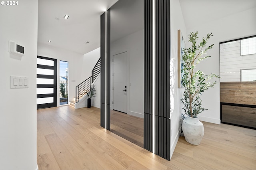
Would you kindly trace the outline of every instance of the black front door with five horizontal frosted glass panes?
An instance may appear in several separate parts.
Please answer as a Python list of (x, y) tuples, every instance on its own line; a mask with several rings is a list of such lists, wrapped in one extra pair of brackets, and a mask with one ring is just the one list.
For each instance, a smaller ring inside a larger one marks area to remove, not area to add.
[(37, 56), (37, 109), (57, 106), (57, 59)]

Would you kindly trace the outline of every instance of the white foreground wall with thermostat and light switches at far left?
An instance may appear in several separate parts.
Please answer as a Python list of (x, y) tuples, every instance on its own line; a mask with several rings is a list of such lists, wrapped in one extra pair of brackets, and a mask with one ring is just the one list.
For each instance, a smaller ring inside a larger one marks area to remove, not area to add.
[[(5, 1), (6, 2), (6, 1)], [(36, 170), (36, 54), (38, 0), (0, 6), (0, 169)], [(24, 46), (15, 59), (8, 41)], [(10, 89), (10, 75), (28, 77), (28, 88)]]

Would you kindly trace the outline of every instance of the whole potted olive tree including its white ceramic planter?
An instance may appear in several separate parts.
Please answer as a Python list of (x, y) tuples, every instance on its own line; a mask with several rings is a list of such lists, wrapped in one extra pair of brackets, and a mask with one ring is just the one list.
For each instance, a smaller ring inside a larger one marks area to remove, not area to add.
[(213, 87), (217, 82), (210, 82), (212, 77), (220, 78), (218, 75), (211, 73), (206, 75), (201, 70), (196, 70), (196, 65), (200, 61), (210, 57), (209, 55), (203, 56), (209, 49), (212, 49), (213, 45), (207, 46), (207, 41), (212, 36), (207, 34), (202, 41), (197, 44), (198, 32), (192, 32), (189, 34), (189, 42), (192, 43), (191, 47), (183, 49), (183, 76), (182, 86), (184, 87), (183, 97), (181, 102), (183, 103), (183, 111), (188, 115), (182, 123), (182, 130), (185, 139), (190, 144), (200, 144), (204, 136), (204, 126), (199, 121), (197, 115), (205, 110), (202, 107), (201, 94), (205, 92), (209, 87)]

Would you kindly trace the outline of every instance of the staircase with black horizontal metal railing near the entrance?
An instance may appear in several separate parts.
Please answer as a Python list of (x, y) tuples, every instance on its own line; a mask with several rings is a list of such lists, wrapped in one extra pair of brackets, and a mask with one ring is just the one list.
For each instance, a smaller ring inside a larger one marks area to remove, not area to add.
[(75, 109), (86, 107), (87, 104), (85, 103), (87, 103), (86, 99), (88, 99), (86, 94), (90, 92), (91, 85), (97, 79), (98, 75), (100, 75), (100, 59), (98, 59), (96, 65), (92, 69), (92, 76), (76, 86), (76, 97), (74, 98), (74, 101), (70, 101), (71, 106), (75, 107)]

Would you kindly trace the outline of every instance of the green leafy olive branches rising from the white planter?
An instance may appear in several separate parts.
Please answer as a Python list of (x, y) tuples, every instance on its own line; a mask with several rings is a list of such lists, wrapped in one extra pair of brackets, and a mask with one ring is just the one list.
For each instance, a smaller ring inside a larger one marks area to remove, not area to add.
[(206, 38), (203, 38), (199, 45), (196, 44), (196, 41), (198, 40), (197, 34), (198, 32), (192, 32), (189, 34), (189, 42), (191, 42), (192, 45), (189, 48), (183, 49), (182, 56), (184, 61), (182, 69), (182, 86), (185, 88), (183, 98), (181, 99), (181, 102), (184, 104), (182, 109), (187, 115), (191, 115), (191, 117), (208, 110), (202, 107), (200, 95), (208, 90), (209, 87), (213, 87), (217, 83), (216, 81), (213, 83), (209, 82), (212, 77), (220, 78), (218, 75), (213, 73), (205, 75), (201, 70), (194, 71), (196, 65), (200, 63), (200, 61), (211, 57), (209, 55), (203, 57), (202, 55), (206, 54), (208, 49), (212, 49), (214, 45), (212, 44), (206, 47), (207, 41), (212, 36), (212, 33), (207, 34)]

